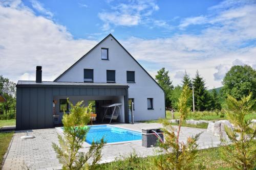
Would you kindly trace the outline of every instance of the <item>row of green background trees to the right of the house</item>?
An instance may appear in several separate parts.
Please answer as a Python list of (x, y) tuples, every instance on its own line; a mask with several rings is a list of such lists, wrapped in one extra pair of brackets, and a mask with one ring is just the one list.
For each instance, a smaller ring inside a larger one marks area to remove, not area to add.
[[(243, 96), (252, 93), (252, 99), (256, 96), (256, 70), (252, 67), (245, 66), (233, 66), (226, 73), (220, 92), (214, 88), (211, 91), (207, 90), (204, 78), (199, 74), (197, 70), (194, 78), (190, 78), (187, 72), (182, 80), (182, 85), (176, 87), (173, 86), (169, 71), (165, 68), (161, 68), (156, 75), (156, 80), (165, 92), (165, 106), (167, 109), (177, 109), (178, 99), (182, 92), (182, 87), (188, 86), (192, 89), (194, 86), (195, 97), (195, 109), (197, 111), (205, 110), (220, 110), (224, 105), (224, 101), (227, 95), (233, 96), (233, 98), (240, 100)], [(188, 99), (190, 110), (193, 109), (193, 96), (192, 94)]]

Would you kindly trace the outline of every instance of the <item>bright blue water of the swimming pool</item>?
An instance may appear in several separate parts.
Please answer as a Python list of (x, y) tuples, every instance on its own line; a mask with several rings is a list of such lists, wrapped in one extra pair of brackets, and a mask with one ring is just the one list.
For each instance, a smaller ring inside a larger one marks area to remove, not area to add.
[(86, 136), (86, 142), (92, 144), (92, 141), (100, 141), (102, 137), (104, 137), (106, 143), (140, 140), (142, 138), (139, 132), (108, 125), (96, 125), (90, 126), (90, 130)]

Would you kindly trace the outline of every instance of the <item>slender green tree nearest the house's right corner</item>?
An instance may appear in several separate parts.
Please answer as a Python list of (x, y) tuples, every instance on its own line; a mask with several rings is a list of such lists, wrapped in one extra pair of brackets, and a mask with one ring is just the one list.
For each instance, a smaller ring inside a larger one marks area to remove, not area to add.
[(159, 71), (157, 71), (156, 80), (164, 90), (165, 107), (170, 108), (172, 106), (170, 95), (174, 86), (172, 84), (172, 81), (170, 81), (170, 77), (168, 76), (168, 74), (169, 74), (169, 71), (165, 70), (165, 68), (163, 67)]

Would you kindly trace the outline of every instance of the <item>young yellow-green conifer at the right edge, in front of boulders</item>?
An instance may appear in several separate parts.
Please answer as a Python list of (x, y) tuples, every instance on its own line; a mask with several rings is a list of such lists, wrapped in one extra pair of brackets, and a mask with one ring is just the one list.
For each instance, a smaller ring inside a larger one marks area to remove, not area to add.
[(228, 95), (226, 104), (228, 119), (234, 129), (225, 127), (230, 142), (224, 141), (227, 145), (223, 147), (222, 158), (236, 169), (253, 169), (256, 167), (256, 126), (246, 116), (255, 100), (252, 100), (252, 93), (240, 101)]

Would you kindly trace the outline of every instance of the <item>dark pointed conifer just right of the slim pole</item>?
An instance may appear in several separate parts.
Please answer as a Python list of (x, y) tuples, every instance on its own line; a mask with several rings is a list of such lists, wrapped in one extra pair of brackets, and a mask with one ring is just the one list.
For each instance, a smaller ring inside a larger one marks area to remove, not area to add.
[(199, 75), (197, 70), (196, 77), (193, 79), (195, 108), (198, 111), (204, 111), (209, 108), (209, 95), (205, 87), (205, 80)]

